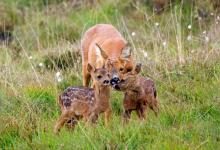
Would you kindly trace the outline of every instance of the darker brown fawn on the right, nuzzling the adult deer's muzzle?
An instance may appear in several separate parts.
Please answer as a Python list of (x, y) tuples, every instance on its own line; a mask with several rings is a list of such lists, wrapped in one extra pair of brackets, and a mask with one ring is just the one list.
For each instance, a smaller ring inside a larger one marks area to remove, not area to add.
[(150, 78), (138, 76), (141, 64), (135, 70), (124, 74), (122, 80), (114, 86), (116, 90), (124, 91), (124, 122), (130, 119), (131, 112), (136, 110), (140, 119), (146, 119), (146, 109), (149, 106), (157, 116), (159, 112), (157, 92), (154, 82)]

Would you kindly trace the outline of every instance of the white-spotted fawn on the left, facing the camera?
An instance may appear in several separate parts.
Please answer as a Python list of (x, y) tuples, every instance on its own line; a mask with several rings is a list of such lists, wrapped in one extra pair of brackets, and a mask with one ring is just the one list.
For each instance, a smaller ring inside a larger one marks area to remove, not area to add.
[(69, 87), (60, 95), (59, 105), (62, 114), (54, 127), (54, 133), (58, 133), (65, 123), (72, 123), (74, 127), (81, 118), (94, 123), (102, 112), (105, 115), (105, 125), (108, 125), (111, 115), (109, 73), (104, 67), (94, 68), (90, 64), (87, 69), (94, 87)]

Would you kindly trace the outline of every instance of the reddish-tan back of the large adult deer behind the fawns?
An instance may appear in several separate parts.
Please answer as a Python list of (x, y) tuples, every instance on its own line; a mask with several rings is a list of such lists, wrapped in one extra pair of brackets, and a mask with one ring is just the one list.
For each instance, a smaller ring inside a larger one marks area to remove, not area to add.
[(117, 58), (120, 56), (127, 41), (112, 25), (97, 24), (88, 29), (82, 39), (83, 62), (95, 62), (95, 43), (102, 47), (109, 58)]

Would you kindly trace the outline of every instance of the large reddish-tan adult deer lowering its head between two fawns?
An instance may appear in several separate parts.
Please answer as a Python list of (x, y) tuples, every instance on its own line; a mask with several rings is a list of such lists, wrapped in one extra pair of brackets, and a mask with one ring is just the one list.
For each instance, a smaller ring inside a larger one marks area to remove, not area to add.
[(83, 86), (89, 86), (91, 74), (88, 63), (95, 67), (106, 65), (110, 83), (117, 84), (124, 72), (133, 69), (131, 46), (120, 32), (110, 24), (97, 24), (89, 28), (81, 40)]

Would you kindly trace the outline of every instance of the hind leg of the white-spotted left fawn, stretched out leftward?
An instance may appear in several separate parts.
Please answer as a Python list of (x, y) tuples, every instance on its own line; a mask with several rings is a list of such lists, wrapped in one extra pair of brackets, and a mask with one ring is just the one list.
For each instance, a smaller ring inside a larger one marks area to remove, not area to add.
[(73, 112), (70, 111), (63, 112), (54, 127), (54, 133), (57, 134), (60, 128), (64, 125), (64, 123), (67, 120), (71, 119), (72, 116), (73, 116)]

